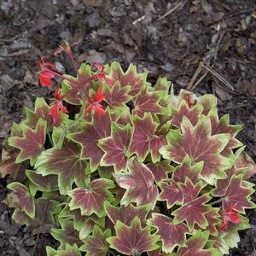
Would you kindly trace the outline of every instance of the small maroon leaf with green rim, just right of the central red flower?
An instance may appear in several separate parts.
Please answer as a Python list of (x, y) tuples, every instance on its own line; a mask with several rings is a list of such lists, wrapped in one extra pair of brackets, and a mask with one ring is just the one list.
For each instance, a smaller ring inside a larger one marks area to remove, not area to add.
[(113, 84), (112, 87), (106, 86), (106, 90), (103, 90), (104, 101), (108, 102), (108, 105), (112, 108), (122, 107), (132, 98), (132, 96), (129, 96), (130, 90), (130, 85), (121, 86), (119, 82)]

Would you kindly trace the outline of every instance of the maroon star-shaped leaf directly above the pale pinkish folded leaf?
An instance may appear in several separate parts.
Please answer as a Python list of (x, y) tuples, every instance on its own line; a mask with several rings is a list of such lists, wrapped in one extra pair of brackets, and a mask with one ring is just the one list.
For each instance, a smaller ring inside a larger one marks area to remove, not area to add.
[(127, 160), (125, 152), (131, 140), (131, 125), (119, 126), (111, 124), (111, 137), (99, 140), (99, 147), (105, 152), (102, 156), (101, 166), (112, 166), (114, 172), (125, 172)]

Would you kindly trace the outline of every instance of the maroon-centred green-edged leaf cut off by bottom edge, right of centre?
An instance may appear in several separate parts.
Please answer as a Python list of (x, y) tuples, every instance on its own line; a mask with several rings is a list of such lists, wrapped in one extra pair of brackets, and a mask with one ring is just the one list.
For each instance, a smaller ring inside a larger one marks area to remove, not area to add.
[(184, 247), (179, 247), (177, 250), (177, 256), (221, 256), (223, 255), (216, 248), (205, 249), (209, 232), (197, 230), (195, 235), (191, 236)]

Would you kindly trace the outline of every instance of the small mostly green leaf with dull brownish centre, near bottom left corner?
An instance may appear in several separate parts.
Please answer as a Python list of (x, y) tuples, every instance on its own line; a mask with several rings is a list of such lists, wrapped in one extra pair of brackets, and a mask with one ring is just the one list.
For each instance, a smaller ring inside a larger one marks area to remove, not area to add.
[(51, 229), (50, 235), (55, 238), (55, 240), (61, 242), (61, 248), (65, 247), (65, 244), (77, 244), (82, 245), (82, 241), (79, 239), (79, 232), (73, 228), (73, 221), (59, 218), (59, 223), (61, 224), (61, 229)]

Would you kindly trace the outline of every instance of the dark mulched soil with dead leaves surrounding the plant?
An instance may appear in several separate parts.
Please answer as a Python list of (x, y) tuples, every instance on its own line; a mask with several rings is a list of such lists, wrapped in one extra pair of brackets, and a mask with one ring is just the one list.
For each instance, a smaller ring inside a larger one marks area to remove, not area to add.
[[(0, 144), (25, 106), (50, 95), (38, 84), (36, 63), (65, 40), (79, 41), (79, 62), (128, 67), (132, 61), (152, 82), (166, 76), (176, 90), (189, 85), (198, 95), (218, 96), (220, 114), (243, 125), (238, 138), (256, 160), (255, 0), (0, 0)], [(213, 73), (202, 67), (194, 81), (200, 61)], [(0, 201), (10, 182), (1, 180)], [(10, 215), (0, 203), (0, 255), (40, 256), (54, 245), (49, 235), (13, 224)], [(230, 255), (256, 255), (256, 210), (247, 216), (251, 229), (241, 232)]]

